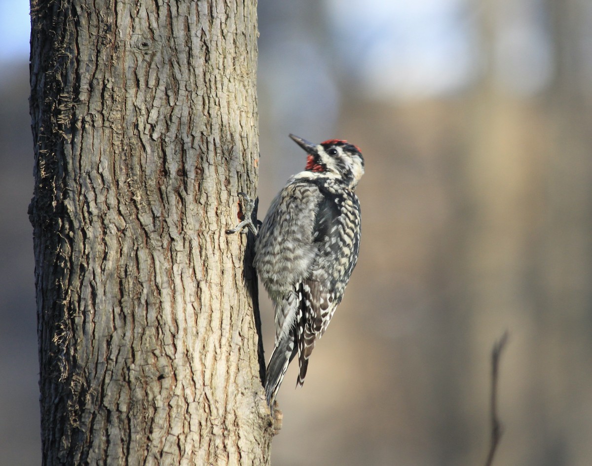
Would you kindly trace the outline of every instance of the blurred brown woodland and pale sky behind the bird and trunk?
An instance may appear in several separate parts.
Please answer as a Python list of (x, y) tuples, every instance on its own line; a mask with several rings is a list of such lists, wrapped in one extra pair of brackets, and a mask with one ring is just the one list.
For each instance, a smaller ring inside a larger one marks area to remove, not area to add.
[[(40, 464), (26, 2), (0, 0), (0, 465)], [(272, 464), (592, 464), (592, 2), (259, 1), (260, 212), (359, 145), (361, 255)], [(272, 310), (262, 292), (267, 357)]]

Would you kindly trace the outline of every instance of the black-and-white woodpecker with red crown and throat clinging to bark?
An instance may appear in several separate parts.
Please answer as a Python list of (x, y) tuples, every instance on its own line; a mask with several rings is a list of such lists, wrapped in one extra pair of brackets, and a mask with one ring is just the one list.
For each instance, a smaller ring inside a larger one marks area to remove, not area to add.
[(297, 383), (303, 384), (314, 344), (356, 266), (361, 234), (355, 194), (364, 173), (359, 148), (341, 140), (312, 144), (290, 137), (307, 152), (307, 164), (272, 201), (255, 243), (254, 265), (275, 307), (275, 348), (265, 377), (269, 406), (296, 354)]

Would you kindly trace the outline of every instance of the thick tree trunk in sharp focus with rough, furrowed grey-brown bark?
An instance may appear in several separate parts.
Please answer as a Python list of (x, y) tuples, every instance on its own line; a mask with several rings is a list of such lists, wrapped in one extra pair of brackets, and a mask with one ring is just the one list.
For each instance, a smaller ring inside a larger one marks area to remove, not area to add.
[(269, 464), (255, 0), (31, 17), (43, 464)]

